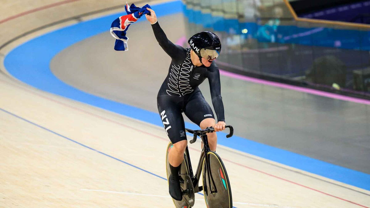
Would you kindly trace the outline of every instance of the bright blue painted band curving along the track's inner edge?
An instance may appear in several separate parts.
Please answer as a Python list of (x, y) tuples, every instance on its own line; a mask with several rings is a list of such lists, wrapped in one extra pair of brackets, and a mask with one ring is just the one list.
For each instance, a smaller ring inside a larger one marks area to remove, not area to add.
[[(156, 11), (157, 16), (178, 13), (182, 11), (182, 3), (181, 1), (174, 1), (154, 6), (153, 9)], [(51, 73), (49, 68), (51, 59), (57, 53), (85, 38), (102, 32), (108, 32), (111, 22), (119, 15), (120, 14), (114, 14), (78, 23), (34, 38), (10, 51), (5, 57), (4, 65), (12, 76), (40, 90), (163, 127), (159, 114), (77, 90), (58, 80), (58, 78)], [(141, 19), (139, 21), (144, 20), (145, 19)], [(130, 30), (134, 29), (135, 25), (132, 25)], [(128, 31), (127, 36), (130, 37), (129, 35), (130, 33)], [(112, 38), (112, 50), (113, 47), (114, 38)], [(131, 52), (127, 51), (122, 53), (132, 53), (132, 51), (133, 50), (131, 50)], [(192, 129), (198, 128), (195, 124), (190, 123), (186, 123), (186, 127)], [(226, 139), (225, 135), (226, 134), (223, 132), (218, 132), (219, 144), (370, 190), (369, 174), (281, 150), (279, 148), (270, 147), (242, 137), (233, 136), (232, 138)]]

